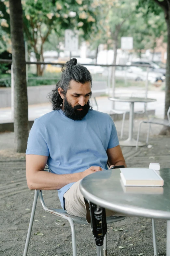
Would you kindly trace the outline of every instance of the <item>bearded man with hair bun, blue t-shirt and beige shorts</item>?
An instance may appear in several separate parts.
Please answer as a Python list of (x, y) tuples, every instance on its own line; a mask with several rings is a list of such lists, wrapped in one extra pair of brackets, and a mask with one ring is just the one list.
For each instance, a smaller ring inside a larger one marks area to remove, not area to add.
[[(67, 61), (50, 94), (53, 111), (35, 119), (26, 151), (28, 187), (58, 190), (63, 209), (88, 222), (80, 180), (107, 169), (107, 161), (126, 166), (111, 117), (90, 106), (91, 87), (90, 72), (76, 59)], [(50, 173), (43, 172), (46, 163)], [(107, 216), (112, 214), (106, 210)]]

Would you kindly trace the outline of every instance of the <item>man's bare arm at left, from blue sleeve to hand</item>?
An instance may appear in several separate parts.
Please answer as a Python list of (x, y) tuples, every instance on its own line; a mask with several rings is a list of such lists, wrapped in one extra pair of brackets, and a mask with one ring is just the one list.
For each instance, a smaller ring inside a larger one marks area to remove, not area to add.
[(84, 172), (73, 174), (55, 174), (44, 172), (47, 156), (26, 155), (26, 178), (29, 189), (56, 190), (65, 185), (83, 179), (85, 176), (101, 171), (99, 166), (91, 166)]

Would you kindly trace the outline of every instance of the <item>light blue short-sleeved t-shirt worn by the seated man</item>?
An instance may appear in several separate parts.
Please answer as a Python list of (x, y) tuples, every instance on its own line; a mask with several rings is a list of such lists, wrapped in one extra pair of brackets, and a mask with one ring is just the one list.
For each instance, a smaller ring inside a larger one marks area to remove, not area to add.
[[(117, 145), (117, 131), (108, 114), (89, 110), (82, 120), (74, 121), (60, 109), (35, 119), (26, 154), (48, 156), (51, 173), (70, 174), (91, 166), (107, 169), (106, 150)], [(58, 190), (63, 208), (63, 195), (73, 184)]]

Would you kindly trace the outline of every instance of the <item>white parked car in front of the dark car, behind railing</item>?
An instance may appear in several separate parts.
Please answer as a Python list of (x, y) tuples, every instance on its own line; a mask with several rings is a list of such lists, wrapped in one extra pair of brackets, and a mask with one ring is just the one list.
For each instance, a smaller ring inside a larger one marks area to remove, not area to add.
[[(117, 78), (127, 78), (130, 80), (139, 80), (139, 81), (145, 81), (147, 78), (147, 72), (143, 71), (142, 68), (139, 67), (129, 67), (127, 70), (125, 70), (123, 67), (116, 67), (115, 75)], [(164, 77), (161, 73), (156, 72), (149, 72), (148, 80), (151, 83), (162, 81), (164, 80)]]

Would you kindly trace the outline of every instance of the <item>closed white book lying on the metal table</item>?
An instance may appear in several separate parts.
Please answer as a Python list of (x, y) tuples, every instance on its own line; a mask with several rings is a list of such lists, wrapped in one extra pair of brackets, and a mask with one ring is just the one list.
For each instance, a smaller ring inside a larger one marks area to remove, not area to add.
[(163, 186), (163, 179), (153, 169), (120, 168), (120, 177), (125, 186)]

